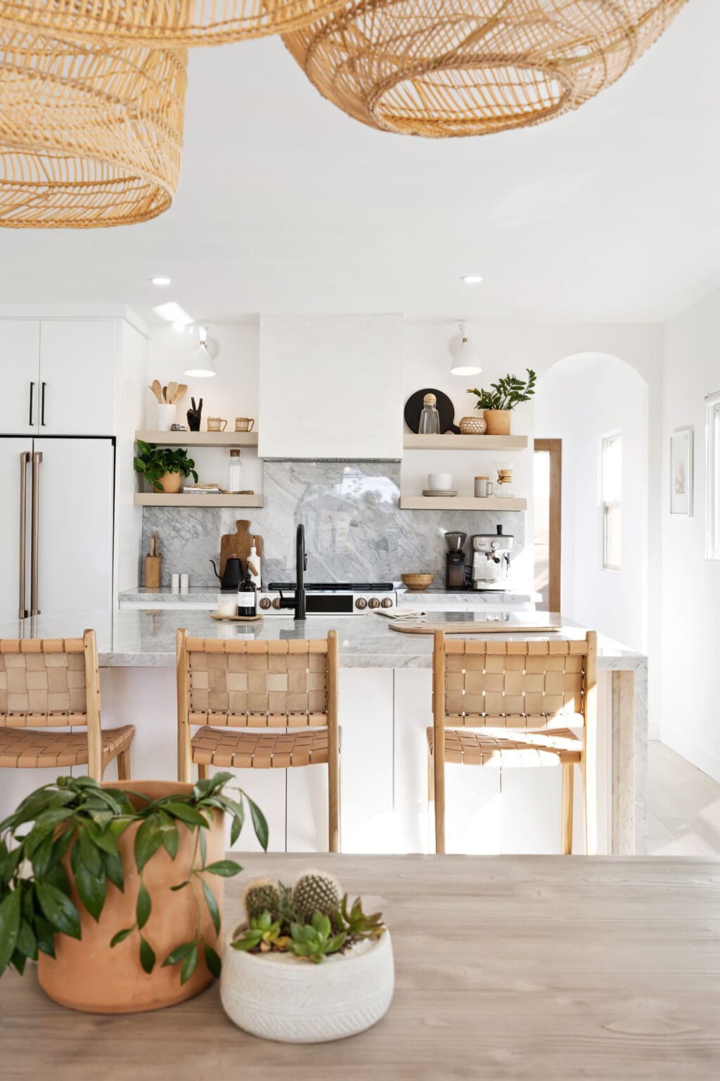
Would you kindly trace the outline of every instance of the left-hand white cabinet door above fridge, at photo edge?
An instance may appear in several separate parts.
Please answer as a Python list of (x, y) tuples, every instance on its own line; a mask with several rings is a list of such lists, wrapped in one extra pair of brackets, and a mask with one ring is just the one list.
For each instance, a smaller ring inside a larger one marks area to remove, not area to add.
[(37, 432), (40, 423), (40, 323), (0, 319), (0, 435)]

